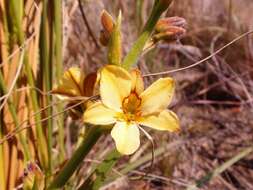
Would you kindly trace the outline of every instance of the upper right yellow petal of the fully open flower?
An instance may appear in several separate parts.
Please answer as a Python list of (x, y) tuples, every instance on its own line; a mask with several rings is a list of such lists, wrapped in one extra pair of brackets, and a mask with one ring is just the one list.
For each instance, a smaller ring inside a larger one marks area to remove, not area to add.
[(174, 88), (174, 80), (169, 77), (160, 78), (149, 86), (140, 95), (142, 115), (157, 113), (166, 109), (172, 100)]

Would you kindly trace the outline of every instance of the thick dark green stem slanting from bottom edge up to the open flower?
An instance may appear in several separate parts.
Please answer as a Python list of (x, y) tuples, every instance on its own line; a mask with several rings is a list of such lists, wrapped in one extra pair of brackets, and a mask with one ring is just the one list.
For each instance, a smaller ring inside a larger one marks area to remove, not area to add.
[(92, 128), (86, 134), (82, 144), (74, 152), (73, 156), (62, 168), (53, 182), (49, 185), (49, 189), (61, 188), (67, 183), (75, 170), (80, 166), (84, 157), (89, 153), (92, 147), (96, 144), (103, 130), (100, 127), (91, 126)]

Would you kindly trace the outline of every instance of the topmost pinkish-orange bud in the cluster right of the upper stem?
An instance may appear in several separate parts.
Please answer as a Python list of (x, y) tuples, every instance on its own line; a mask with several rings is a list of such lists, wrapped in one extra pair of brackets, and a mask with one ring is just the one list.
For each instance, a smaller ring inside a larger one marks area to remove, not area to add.
[(155, 26), (155, 31), (157, 33), (165, 32), (171, 26), (184, 28), (186, 26), (186, 20), (177, 16), (160, 19)]

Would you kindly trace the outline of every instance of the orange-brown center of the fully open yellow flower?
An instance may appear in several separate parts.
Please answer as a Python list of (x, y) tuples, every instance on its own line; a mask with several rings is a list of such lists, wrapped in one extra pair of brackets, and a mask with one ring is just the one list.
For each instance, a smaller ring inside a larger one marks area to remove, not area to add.
[(129, 96), (124, 98), (122, 102), (122, 110), (126, 120), (133, 121), (140, 115), (141, 98), (135, 91), (132, 91)]

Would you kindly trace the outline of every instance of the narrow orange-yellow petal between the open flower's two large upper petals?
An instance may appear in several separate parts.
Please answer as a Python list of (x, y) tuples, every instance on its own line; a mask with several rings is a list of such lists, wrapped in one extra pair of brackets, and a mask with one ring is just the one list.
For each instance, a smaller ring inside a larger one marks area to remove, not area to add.
[(137, 69), (131, 71), (132, 76), (132, 91), (135, 91), (138, 95), (140, 95), (144, 91), (144, 83), (143, 78), (141, 76), (141, 72)]

